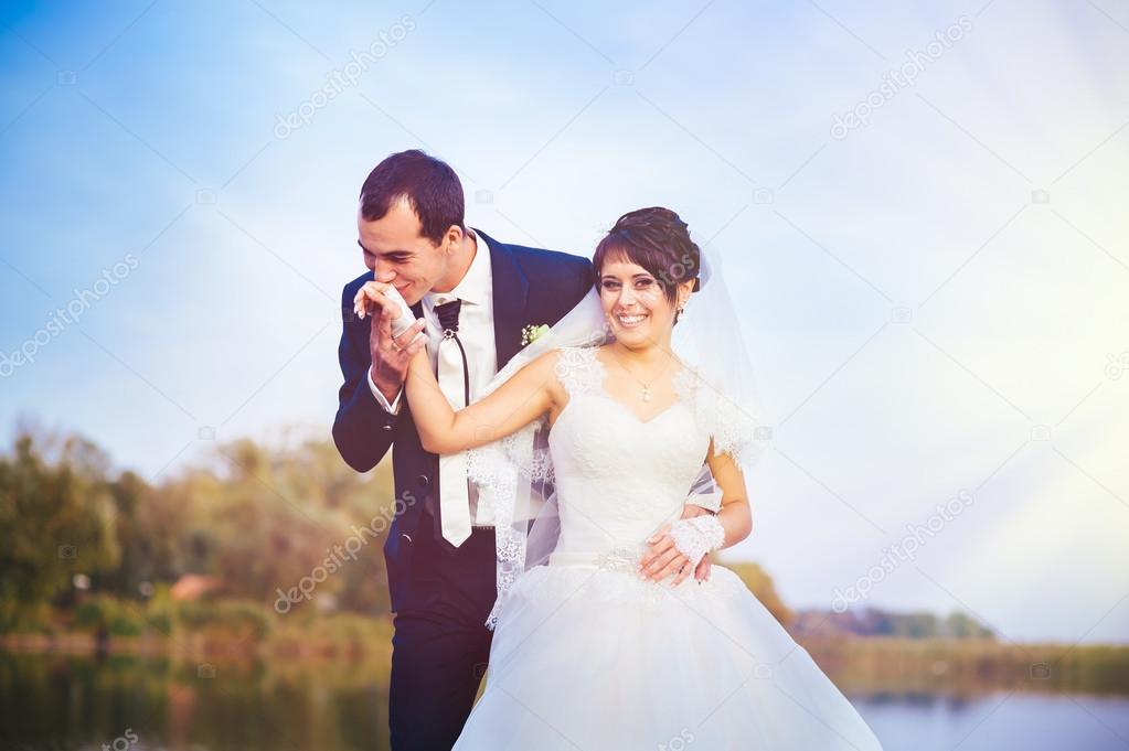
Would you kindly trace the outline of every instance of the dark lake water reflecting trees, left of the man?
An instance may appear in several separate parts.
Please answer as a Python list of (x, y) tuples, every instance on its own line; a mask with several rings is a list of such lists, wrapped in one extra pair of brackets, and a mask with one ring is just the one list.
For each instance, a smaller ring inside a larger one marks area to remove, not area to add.
[(388, 748), (384, 675), (340, 662), (0, 653), (0, 740), (26, 749), (379, 751)]

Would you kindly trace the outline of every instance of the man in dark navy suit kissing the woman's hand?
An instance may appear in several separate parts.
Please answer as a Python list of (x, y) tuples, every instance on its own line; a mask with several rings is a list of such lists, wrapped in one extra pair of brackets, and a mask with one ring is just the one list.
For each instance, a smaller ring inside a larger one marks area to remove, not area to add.
[(446, 164), (417, 150), (386, 158), (360, 192), (357, 229), (369, 273), (341, 299), (344, 383), (333, 440), (357, 471), (395, 445), (397, 515), (384, 545), (395, 612), (394, 751), (449, 749), (471, 712), (490, 653), (495, 533), (465, 465), (444, 457), (440, 466), (420, 447), (403, 395), (404, 347), (419, 325), (394, 339), (387, 308), (360, 319), (353, 297), (374, 279), (400, 291), (426, 321), (440, 387), (461, 407), (523, 347), (526, 326), (552, 326), (594, 284), (587, 258), (499, 242), (466, 227), (463, 212), (463, 186)]

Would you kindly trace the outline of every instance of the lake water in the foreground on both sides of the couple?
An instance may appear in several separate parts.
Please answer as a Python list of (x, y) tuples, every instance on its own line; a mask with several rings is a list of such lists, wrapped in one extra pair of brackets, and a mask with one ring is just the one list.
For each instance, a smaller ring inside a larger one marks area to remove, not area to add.
[[(340, 662), (219, 666), (0, 653), (0, 746), (379, 751), (387, 749), (384, 674)], [(1129, 697), (851, 699), (886, 751), (1129, 751)]]

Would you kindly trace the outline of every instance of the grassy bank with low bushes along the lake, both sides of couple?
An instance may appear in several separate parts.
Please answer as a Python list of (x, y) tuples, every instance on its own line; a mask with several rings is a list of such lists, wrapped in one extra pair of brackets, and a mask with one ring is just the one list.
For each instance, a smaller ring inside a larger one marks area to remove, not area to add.
[[(141, 603), (107, 595), (68, 611), (43, 611), (19, 633), (0, 635), (12, 652), (170, 655), (202, 662), (341, 663), (385, 671), (387, 616), (286, 615), (261, 603)], [(855, 693), (975, 695), (986, 690), (1129, 695), (1129, 646), (1009, 644), (995, 639), (804, 636), (798, 642)]]

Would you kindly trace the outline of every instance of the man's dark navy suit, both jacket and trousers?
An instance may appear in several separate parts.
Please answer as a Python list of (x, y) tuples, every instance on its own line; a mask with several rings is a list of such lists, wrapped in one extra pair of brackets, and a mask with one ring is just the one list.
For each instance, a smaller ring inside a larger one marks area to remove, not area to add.
[[(495, 344), (500, 370), (522, 348), (526, 326), (553, 325), (592, 289), (587, 258), (506, 245), (474, 230), (490, 248)], [(481, 246), (480, 246), (481, 250)], [(387, 413), (369, 390), (368, 318), (353, 297), (373, 279), (349, 282), (341, 298), (338, 357), (344, 383), (333, 440), (357, 471), (368, 471), (390, 447), (397, 510), (384, 545), (396, 616), (388, 722), (394, 751), (449, 749), (470, 714), (490, 651), (483, 625), (495, 599), (492, 529), (474, 528), (458, 548), (439, 533), (439, 457), (420, 447), (406, 398)], [(422, 317), (419, 303), (412, 306)]]

